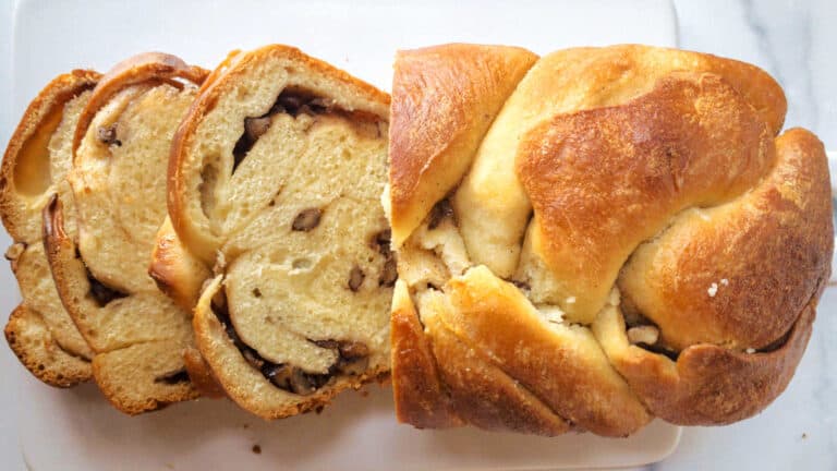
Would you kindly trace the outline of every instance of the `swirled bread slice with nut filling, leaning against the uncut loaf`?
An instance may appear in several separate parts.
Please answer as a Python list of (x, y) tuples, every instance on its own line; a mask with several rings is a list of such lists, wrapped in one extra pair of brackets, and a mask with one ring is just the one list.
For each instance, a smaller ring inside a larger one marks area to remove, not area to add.
[(213, 374), (265, 419), (389, 370), (388, 106), (342, 71), (267, 46), (221, 64), (178, 131), (175, 233), (161, 231), (151, 273), (196, 301)]

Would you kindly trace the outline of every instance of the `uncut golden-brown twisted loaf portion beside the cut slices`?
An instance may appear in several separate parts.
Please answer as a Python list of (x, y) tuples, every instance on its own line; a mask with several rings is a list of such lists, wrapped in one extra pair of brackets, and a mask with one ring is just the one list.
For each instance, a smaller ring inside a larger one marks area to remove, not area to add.
[(829, 276), (823, 145), (755, 67), (642, 46), (400, 52), (398, 418), (626, 436), (788, 385)]

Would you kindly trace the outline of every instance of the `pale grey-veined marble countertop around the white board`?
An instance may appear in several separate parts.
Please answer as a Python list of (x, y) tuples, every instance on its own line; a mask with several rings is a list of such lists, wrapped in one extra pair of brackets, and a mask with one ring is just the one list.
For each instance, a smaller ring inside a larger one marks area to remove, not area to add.
[[(674, 0), (680, 47), (755, 63), (772, 73), (788, 97), (786, 126), (804, 126), (827, 148), (837, 150), (837, 2), (833, 0)], [(0, 80), (10, 78), (12, 0), (0, 0)], [(9, 86), (0, 87), (0, 142), (5, 143), (14, 117)], [(15, 287), (0, 287), (12, 295)], [(824, 304), (837, 305), (837, 289)], [(726, 427), (683, 431), (675, 454), (647, 469), (837, 469), (837, 340), (835, 312), (820, 310), (804, 358), (786, 392), (764, 413)], [(0, 372), (19, 367), (7, 349)], [(15, 403), (16, 388), (0, 386), (0, 403)], [(7, 470), (25, 469), (14, 421), (0, 420), (0, 457)]]

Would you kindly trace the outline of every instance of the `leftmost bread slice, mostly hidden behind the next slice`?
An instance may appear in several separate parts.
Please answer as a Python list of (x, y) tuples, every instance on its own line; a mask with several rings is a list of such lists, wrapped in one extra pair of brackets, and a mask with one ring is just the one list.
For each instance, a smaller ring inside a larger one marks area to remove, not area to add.
[[(72, 160), (75, 124), (99, 78), (97, 72), (76, 70), (44, 87), (23, 114), (0, 168), (0, 217), (13, 239), (5, 257), (23, 298), (9, 317), (5, 338), (29, 372), (58, 387), (88, 381), (93, 352), (52, 282), (41, 210), (51, 194), (68, 200), (64, 176)], [(68, 231), (75, 231), (72, 220)]]

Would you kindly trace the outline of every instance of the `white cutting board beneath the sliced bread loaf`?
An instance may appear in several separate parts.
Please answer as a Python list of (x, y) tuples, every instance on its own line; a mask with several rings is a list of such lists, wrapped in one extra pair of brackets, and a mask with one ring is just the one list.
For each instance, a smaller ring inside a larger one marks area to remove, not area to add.
[[(397, 49), (450, 41), (508, 44), (538, 53), (616, 43), (676, 44), (668, 1), (149, 1), (21, 0), (14, 14), (16, 120), (52, 76), (107, 70), (135, 52), (161, 50), (211, 69), (235, 48), (295, 45), (390, 88)], [(0, 238), (5, 246), (8, 237)], [(19, 298), (5, 264), (0, 312)], [(0, 354), (11, 354), (0, 348)], [(629, 467), (663, 459), (678, 427), (654, 422), (628, 439), (538, 438), (473, 428), (416, 431), (396, 422), (388, 388), (349, 392), (320, 415), (267, 423), (228, 401), (199, 400), (128, 418), (94, 386), (41, 385), (22, 369), (2, 372), (20, 387), (24, 459), (34, 470), (149, 469), (557, 469)], [(258, 445), (262, 452), (255, 454)]]

